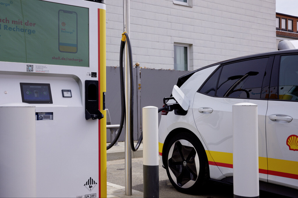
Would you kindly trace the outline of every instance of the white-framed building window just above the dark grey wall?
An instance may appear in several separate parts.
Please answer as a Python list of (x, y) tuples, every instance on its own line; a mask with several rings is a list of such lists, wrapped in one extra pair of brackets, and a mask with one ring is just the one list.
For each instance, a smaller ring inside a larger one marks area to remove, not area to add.
[(188, 71), (189, 45), (174, 44), (174, 69)]

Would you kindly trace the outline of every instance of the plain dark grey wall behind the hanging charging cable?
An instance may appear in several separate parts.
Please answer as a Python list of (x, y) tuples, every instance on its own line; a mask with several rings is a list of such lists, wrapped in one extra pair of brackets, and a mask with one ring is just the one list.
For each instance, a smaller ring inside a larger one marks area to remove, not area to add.
[[(107, 67), (107, 92), (105, 106), (110, 112), (111, 124), (119, 124), (121, 118), (120, 100), (120, 69), (119, 67)], [(138, 72), (137, 72), (138, 71)], [(178, 77), (188, 72), (159, 70), (159, 69), (136, 69), (134, 68), (134, 140), (141, 134), (142, 107), (155, 106), (161, 108), (162, 99), (172, 94), (173, 86)], [(138, 81), (137, 79), (139, 79)], [(140, 85), (139, 85), (140, 84)], [(140, 88), (139, 88), (140, 87)], [(159, 113), (159, 121), (161, 114)], [(119, 141), (125, 140), (125, 127)], [(110, 142), (110, 130), (107, 129), (107, 142)]]

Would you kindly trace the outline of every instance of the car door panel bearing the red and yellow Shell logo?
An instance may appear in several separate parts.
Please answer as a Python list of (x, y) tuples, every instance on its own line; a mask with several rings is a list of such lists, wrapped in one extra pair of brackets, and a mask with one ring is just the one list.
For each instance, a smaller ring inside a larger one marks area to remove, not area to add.
[[(298, 189), (298, 102), (269, 101), (266, 116), (268, 181)], [(291, 122), (271, 120), (269, 115), (293, 118)], [(289, 146), (288, 138), (295, 140)]]

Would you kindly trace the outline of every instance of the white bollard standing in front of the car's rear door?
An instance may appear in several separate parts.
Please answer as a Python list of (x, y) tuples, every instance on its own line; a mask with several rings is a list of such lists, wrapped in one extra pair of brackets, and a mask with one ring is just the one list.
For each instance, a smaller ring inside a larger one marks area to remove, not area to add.
[(257, 105), (232, 107), (234, 197), (259, 197)]

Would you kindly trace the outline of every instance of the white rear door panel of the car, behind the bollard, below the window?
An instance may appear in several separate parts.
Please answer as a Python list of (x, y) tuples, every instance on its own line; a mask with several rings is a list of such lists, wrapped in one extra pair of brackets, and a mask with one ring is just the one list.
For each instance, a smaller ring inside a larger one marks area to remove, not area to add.
[[(267, 160), (263, 159), (267, 158), (265, 118), (268, 101), (211, 97), (201, 93), (195, 93), (193, 101), (195, 124), (214, 161), (208, 159), (209, 165), (217, 165), (226, 177), (233, 175), (232, 105), (241, 102), (258, 105), (258, 146), (259, 157), (262, 158), (259, 160), (261, 169), (259, 177), (260, 180), (267, 181), (267, 174), (264, 174), (264, 170), (267, 171)], [(212, 113), (199, 112), (198, 109), (201, 107), (208, 107), (213, 111)]]

